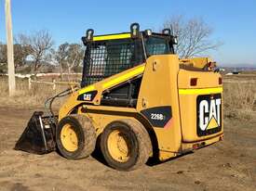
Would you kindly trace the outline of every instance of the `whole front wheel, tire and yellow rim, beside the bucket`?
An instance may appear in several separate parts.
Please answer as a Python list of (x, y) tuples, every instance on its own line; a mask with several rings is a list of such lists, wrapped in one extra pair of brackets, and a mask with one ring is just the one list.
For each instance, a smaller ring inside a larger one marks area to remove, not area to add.
[(96, 132), (88, 117), (70, 115), (59, 122), (56, 143), (64, 158), (84, 159), (95, 149)]

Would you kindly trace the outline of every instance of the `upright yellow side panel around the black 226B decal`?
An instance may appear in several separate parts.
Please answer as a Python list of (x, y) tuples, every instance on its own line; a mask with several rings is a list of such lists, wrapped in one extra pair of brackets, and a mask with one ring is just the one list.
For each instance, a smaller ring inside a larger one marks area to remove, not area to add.
[[(171, 120), (164, 127), (154, 127), (160, 150), (179, 152), (182, 142), (177, 75), (179, 59), (174, 55), (149, 57), (143, 73), (137, 109), (156, 108), (152, 118), (157, 118), (157, 107), (171, 107)], [(158, 116), (161, 117), (161, 116)], [(159, 118), (159, 120), (161, 120)], [(166, 157), (168, 155), (165, 155)], [(164, 159), (164, 156), (161, 156)]]

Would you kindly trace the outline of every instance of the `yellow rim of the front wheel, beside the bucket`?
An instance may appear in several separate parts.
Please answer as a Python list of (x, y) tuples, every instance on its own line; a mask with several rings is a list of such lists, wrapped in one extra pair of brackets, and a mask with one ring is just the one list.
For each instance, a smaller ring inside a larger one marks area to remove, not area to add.
[(74, 152), (78, 148), (78, 137), (72, 125), (65, 124), (63, 126), (61, 130), (61, 144), (70, 152)]

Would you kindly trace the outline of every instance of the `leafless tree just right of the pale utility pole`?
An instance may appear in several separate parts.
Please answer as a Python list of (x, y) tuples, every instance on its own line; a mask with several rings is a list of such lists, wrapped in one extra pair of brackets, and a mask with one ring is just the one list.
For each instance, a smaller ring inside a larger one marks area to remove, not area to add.
[(45, 30), (34, 32), (28, 39), (32, 48), (31, 55), (34, 59), (34, 71), (37, 71), (42, 66), (43, 61), (47, 60), (49, 50), (54, 43), (49, 32)]

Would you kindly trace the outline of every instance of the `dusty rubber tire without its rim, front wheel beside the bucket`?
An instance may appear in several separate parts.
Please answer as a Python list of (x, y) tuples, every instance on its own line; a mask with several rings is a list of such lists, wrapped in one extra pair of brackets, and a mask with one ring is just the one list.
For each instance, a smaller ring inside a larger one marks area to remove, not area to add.
[[(67, 150), (61, 142), (62, 128), (69, 124), (77, 137), (77, 149)], [(66, 159), (84, 159), (87, 158), (95, 149), (96, 132), (88, 117), (74, 114), (61, 119), (56, 133), (56, 143), (61, 155)]]

